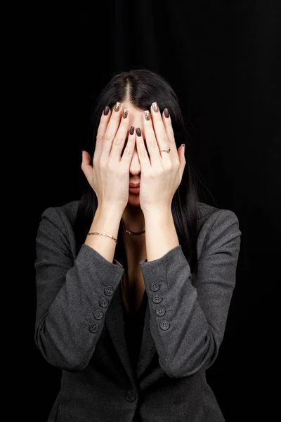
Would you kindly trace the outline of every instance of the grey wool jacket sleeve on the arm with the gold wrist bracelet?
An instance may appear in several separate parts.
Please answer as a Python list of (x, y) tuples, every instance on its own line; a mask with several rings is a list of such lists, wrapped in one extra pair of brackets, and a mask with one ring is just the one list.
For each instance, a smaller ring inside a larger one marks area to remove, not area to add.
[(95, 350), (124, 268), (88, 245), (75, 257), (69, 230), (58, 208), (44, 211), (36, 238), (34, 340), (47, 362), (80, 371)]

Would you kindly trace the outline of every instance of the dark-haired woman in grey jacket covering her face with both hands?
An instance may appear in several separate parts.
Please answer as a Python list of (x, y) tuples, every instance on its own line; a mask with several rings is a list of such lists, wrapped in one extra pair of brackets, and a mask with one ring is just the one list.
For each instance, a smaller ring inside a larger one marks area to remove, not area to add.
[(205, 371), (235, 287), (237, 217), (198, 199), (160, 75), (113, 75), (92, 122), (81, 200), (45, 210), (37, 234), (35, 341), (62, 369), (48, 422), (223, 422)]

